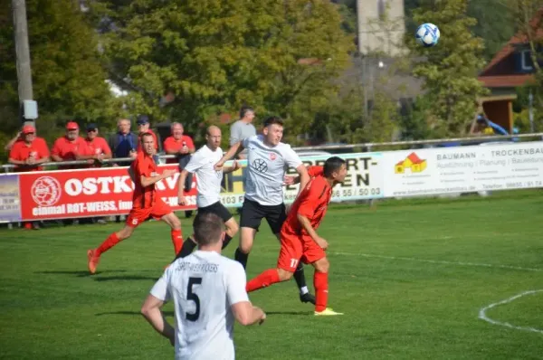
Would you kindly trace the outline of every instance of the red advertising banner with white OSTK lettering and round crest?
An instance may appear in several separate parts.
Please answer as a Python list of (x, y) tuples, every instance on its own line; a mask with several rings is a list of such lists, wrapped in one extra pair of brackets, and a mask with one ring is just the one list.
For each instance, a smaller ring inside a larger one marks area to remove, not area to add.
[[(177, 165), (160, 166), (176, 169)], [(130, 212), (134, 184), (128, 167), (20, 173), (21, 217), (24, 221), (119, 215)], [(196, 208), (195, 176), (186, 195), (188, 205), (177, 205), (179, 173), (155, 187), (172, 210)]]

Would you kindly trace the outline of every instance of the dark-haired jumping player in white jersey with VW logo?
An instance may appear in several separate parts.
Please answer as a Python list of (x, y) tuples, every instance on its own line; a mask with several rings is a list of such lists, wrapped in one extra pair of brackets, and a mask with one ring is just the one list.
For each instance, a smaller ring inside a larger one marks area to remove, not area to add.
[[(244, 138), (234, 144), (215, 165), (221, 169), (224, 162), (247, 149), (247, 177), (245, 180), (245, 199), (243, 200), (240, 226), (240, 246), (235, 251), (235, 260), (243, 268), (247, 266), (249, 252), (254, 236), (262, 218), (270, 225), (271, 232), (280, 240), (281, 226), (287, 218), (283, 202), (283, 180), (288, 166), (300, 174), (300, 190), (310, 181), (308, 170), (290, 145), (281, 143), (283, 121), (278, 117), (266, 118), (262, 135)], [(310, 294), (300, 263), (294, 272), (294, 279), (300, 289), (300, 300), (315, 304), (315, 297)]]

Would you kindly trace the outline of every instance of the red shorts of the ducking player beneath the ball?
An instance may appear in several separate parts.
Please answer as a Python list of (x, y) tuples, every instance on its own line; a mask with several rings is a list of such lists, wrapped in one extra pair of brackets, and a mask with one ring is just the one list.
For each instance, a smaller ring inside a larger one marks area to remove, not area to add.
[(300, 261), (310, 264), (324, 257), (326, 257), (324, 250), (309, 235), (281, 232), (281, 251), (277, 260), (279, 269), (294, 272)]

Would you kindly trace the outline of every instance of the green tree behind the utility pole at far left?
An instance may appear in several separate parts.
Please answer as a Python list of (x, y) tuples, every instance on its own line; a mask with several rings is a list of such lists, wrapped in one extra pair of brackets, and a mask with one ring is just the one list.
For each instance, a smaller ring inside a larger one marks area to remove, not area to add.
[[(52, 139), (69, 118), (107, 125), (120, 109), (102, 70), (96, 37), (71, 0), (27, 0), (33, 97), (38, 133)], [(13, 136), (18, 118), (14, 27), (9, 5), (0, 7), (0, 109), (2, 128)]]

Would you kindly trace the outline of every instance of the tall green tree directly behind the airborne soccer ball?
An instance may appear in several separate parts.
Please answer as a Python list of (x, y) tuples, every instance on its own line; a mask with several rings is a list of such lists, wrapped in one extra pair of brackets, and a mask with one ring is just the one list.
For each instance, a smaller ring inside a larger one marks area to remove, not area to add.
[(442, 33), (433, 48), (424, 48), (407, 37), (414, 54), (425, 61), (414, 66), (414, 76), (424, 79), (425, 97), (433, 106), (429, 115), (435, 121), (437, 136), (463, 135), (477, 110), (477, 99), (486, 93), (477, 73), (484, 62), (481, 38), (472, 35), (476, 20), (468, 16), (467, 0), (424, 0), (414, 10), (417, 24), (438, 24)]

